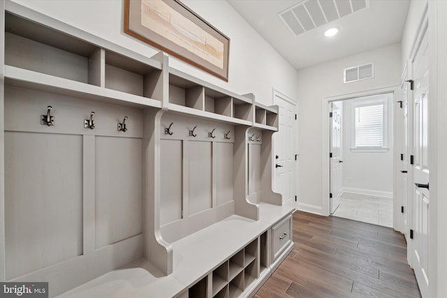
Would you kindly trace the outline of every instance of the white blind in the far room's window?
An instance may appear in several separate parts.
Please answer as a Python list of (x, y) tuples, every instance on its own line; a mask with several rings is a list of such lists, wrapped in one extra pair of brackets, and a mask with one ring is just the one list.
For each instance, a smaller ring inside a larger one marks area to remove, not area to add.
[(356, 107), (356, 147), (383, 147), (383, 103)]

